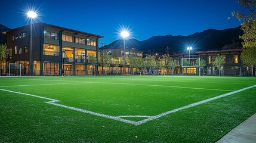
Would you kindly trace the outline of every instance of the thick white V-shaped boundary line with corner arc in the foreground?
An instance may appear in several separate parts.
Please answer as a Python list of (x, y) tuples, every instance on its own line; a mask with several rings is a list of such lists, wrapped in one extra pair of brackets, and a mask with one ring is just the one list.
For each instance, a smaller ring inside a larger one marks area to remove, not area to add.
[[(109, 115), (106, 115), (106, 114), (95, 113), (95, 112), (92, 112), (92, 111), (83, 110), (81, 108), (75, 108), (75, 107), (70, 107), (70, 106), (67, 106), (67, 105), (57, 104), (56, 102), (60, 102), (59, 100), (54, 100), (54, 99), (47, 98), (47, 97), (40, 97), (38, 95), (33, 95), (33, 94), (25, 94), (25, 93), (22, 93), (22, 92), (9, 91), (9, 90), (6, 90), (6, 89), (0, 89), (0, 91), (12, 92), (12, 93), (15, 93), (15, 94), (28, 95), (28, 96), (32, 96), (32, 97), (42, 98), (42, 99), (45, 99), (45, 100), (50, 100), (46, 103), (57, 105), (57, 106), (63, 107), (63, 108), (68, 108), (70, 110), (81, 111), (82, 113), (88, 113), (88, 114), (93, 114), (95, 116), (106, 117), (108, 119), (118, 120), (120, 122), (130, 123), (132, 125), (138, 126), (138, 125), (141, 125), (143, 123), (149, 122), (150, 120), (155, 120), (155, 119), (158, 119), (159, 117), (166, 116), (168, 114), (175, 113), (177, 111), (180, 111), (180, 110), (183, 110), (183, 109), (186, 109), (186, 108), (194, 107), (196, 105), (200, 105), (200, 104), (203, 104), (203, 103), (206, 103), (206, 102), (209, 102), (209, 101), (213, 101), (213, 100), (217, 100), (219, 98), (227, 97), (229, 95), (237, 94), (238, 92), (242, 92), (242, 91), (245, 91), (247, 89), (254, 88), (254, 87), (256, 87), (256, 85), (249, 86), (249, 87), (243, 88), (243, 89), (239, 89), (238, 91), (229, 92), (227, 94), (219, 95), (217, 97), (208, 98), (207, 100), (202, 100), (202, 101), (199, 101), (199, 102), (195, 102), (193, 104), (189, 104), (189, 105), (186, 105), (184, 107), (180, 107), (180, 108), (176, 108), (174, 110), (166, 111), (166, 112), (158, 114), (156, 116), (140, 116), (140, 115), (137, 115), (137, 116), (109, 116)], [(146, 117), (147, 119), (135, 122), (135, 121), (132, 121), (132, 120), (122, 119), (122, 117)]]

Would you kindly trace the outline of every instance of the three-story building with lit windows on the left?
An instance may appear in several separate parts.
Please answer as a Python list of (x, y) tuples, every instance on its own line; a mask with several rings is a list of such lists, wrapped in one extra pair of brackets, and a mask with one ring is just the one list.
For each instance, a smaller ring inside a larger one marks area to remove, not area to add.
[(30, 25), (7, 31), (7, 58), (9, 63), (20, 63), (24, 75), (59, 75), (60, 69), (69, 75), (85, 75), (92, 70), (90, 57), (95, 56), (98, 61), (100, 38), (103, 36), (35, 23), (32, 24), (32, 47)]

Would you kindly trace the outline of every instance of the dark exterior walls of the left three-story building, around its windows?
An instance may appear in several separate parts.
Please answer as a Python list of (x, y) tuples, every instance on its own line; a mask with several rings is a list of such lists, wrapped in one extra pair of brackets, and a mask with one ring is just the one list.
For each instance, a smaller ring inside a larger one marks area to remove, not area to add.
[[(94, 37), (84, 32), (78, 32), (75, 30), (64, 29), (62, 27), (51, 26), (49, 24), (38, 23), (32, 25), (32, 61), (33, 68), (31, 69), (33, 75), (59, 75), (59, 70), (64, 68), (67, 74), (70, 75), (85, 75), (87, 74), (87, 50), (97, 51), (98, 38), (102, 36)], [(22, 32), (26, 32), (26, 37), (17, 38)], [(45, 37), (46, 32), (52, 32), (57, 34), (57, 38)], [(73, 42), (62, 41), (62, 35), (73, 36)], [(13, 41), (14, 36), (14, 41)], [(76, 37), (83, 39), (90, 39), (94, 41), (95, 45), (87, 45), (87, 43), (75, 43)], [(54, 47), (51, 49), (51, 45)], [(30, 25), (24, 27), (18, 27), (17, 29), (7, 32), (7, 46), (11, 50), (10, 63), (21, 63), (26, 69), (29, 69), (30, 61)], [(27, 52), (24, 52), (24, 47), (27, 47)], [(47, 51), (44, 48), (49, 48)], [(17, 54), (15, 47), (17, 47)], [(67, 61), (63, 57), (63, 47), (69, 47), (72, 49), (72, 59)], [(22, 49), (22, 53), (18, 54), (19, 48)], [(57, 48), (57, 51), (56, 51)], [(79, 52), (78, 52), (79, 51)], [(77, 52), (77, 53), (76, 53)], [(77, 55), (77, 54), (83, 55)], [(78, 58), (79, 57), (79, 58)], [(65, 62), (66, 60), (66, 62)], [(29, 71), (29, 70), (28, 70)], [(29, 74), (29, 72), (23, 72), (23, 74)]]

